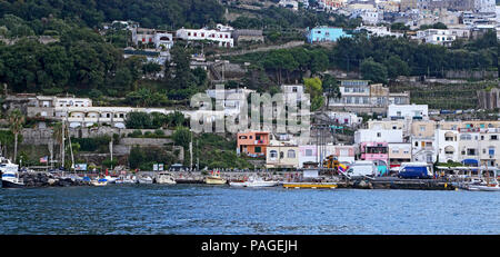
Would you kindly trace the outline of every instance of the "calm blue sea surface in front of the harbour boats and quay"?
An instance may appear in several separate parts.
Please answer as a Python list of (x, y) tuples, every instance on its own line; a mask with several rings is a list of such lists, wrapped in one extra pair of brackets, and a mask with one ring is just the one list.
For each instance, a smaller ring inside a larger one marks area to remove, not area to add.
[(500, 234), (500, 194), (207, 185), (0, 189), (0, 234)]

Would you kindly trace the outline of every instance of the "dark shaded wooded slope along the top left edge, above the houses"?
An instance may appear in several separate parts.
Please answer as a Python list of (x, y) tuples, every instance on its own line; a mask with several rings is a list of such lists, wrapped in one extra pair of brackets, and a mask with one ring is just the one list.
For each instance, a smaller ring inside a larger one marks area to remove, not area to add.
[(28, 20), (37, 29), (43, 26), (42, 19), (50, 17), (90, 28), (113, 20), (133, 20), (146, 28), (199, 28), (211, 22), (223, 22), (223, 9), (217, 0), (0, 1), (0, 17), (3, 14)]

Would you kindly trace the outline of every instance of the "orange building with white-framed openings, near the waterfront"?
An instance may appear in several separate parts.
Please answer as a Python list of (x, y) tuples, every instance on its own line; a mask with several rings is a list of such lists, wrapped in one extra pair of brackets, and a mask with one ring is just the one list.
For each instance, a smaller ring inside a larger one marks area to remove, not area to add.
[(240, 132), (237, 135), (237, 139), (238, 155), (266, 156), (266, 148), (269, 145), (269, 132)]

